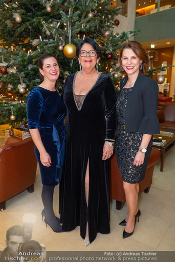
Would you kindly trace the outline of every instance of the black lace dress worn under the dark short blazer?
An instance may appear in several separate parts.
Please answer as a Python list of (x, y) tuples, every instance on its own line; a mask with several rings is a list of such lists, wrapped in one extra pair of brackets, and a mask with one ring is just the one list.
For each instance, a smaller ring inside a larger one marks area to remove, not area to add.
[(115, 153), (117, 164), (124, 182), (135, 184), (139, 183), (141, 166), (133, 165), (134, 157), (140, 146), (143, 134), (138, 132), (126, 133), (125, 130), (120, 128), (124, 125), (124, 114), (132, 87), (122, 88), (117, 97), (116, 113), (117, 113), (117, 131), (116, 131), (116, 144)]

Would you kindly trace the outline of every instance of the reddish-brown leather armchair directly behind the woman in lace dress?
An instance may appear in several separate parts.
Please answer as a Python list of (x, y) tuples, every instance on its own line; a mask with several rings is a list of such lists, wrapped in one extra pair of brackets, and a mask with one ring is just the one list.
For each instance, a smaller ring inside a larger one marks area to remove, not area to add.
[[(155, 164), (158, 162), (160, 152), (153, 147), (148, 160), (145, 177), (139, 183), (139, 193), (144, 191), (148, 193), (152, 184), (152, 174)], [(125, 203), (125, 194), (123, 189), (123, 181), (117, 166), (116, 155), (110, 157), (110, 198), (116, 200), (116, 209), (121, 210)]]

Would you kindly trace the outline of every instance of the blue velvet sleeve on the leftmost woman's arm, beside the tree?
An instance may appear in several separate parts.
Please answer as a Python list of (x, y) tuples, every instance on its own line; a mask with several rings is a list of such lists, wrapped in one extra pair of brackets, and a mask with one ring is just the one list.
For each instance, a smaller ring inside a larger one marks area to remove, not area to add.
[(37, 89), (33, 89), (29, 93), (26, 103), (28, 129), (38, 128), (42, 104), (43, 98), (41, 93)]

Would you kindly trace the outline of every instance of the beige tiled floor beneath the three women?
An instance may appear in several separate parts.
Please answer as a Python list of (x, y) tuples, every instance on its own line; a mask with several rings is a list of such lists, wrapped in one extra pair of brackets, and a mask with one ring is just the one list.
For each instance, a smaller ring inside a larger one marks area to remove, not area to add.
[[(4, 130), (0, 125), (0, 146), (5, 143)], [(67, 233), (54, 233), (41, 220), (41, 181), (37, 168), (34, 192), (27, 190), (6, 201), (6, 210), (0, 212), (0, 251), (5, 247), (6, 230), (13, 225), (22, 225), (23, 216), (35, 218), (32, 239), (45, 245), (46, 250), (66, 251), (175, 251), (175, 146), (166, 154), (164, 170), (159, 171), (160, 162), (154, 168), (153, 182), (148, 194), (140, 193), (138, 205), (141, 211), (139, 223), (134, 233), (122, 239), (123, 227), (118, 223), (127, 216), (127, 206), (121, 211), (115, 209), (115, 201), (110, 202), (110, 228), (107, 235), (97, 234), (87, 247), (79, 235), (79, 227)], [(58, 186), (54, 191), (54, 212), (58, 216)], [(34, 215), (34, 216), (33, 216)]]

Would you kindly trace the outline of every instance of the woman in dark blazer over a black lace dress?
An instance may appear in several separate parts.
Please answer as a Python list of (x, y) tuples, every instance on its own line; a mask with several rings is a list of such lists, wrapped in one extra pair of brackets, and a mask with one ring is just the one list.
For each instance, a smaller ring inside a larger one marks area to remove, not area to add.
[(116, 102), (117, 132), (115, 153), (128, 207), (128, 218), (119, 225), (125, 226), (123, 238), (133, 234), (136, 219), (138, 183), (144, 179), (152, 148), (152, 134), (159, 133), (156, 116), (158, 85), (144, 76), (148, 62), (147, 51), (136, 41), (127, 42), (120, 51), (120, 67), (124, 78)]

